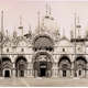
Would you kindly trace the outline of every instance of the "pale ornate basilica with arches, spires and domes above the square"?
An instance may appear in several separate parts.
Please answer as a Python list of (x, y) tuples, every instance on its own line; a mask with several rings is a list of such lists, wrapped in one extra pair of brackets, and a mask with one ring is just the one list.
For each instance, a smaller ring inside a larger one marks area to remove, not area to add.
[[(80, 33), (75, 37), (70, 29), (70, 38), (65, 31), (61, 36), (57, 23), (50, 10), (37, 24), (35, 32), (30, 26), (28, 34), (23, 34), (23, 25), (20, 21), (18, 31), (14, 26), (12, 37), (8, 31), (0, 32), (0, 59), (3, 77), (88, 77), (88, 31), (81, 37)], [(78, 21), (76, 31), (80, 31)], [(2, 34), (2, 37), (1, 37)]]

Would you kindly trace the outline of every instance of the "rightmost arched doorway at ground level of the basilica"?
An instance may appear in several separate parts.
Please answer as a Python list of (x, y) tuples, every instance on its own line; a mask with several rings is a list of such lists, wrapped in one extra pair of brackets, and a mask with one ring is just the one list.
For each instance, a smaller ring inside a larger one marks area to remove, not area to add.
[(84, 57), (77, 57), (75, 61), (75, 74), (77, 77), (85, 77), (87, 69), (87, 61)]

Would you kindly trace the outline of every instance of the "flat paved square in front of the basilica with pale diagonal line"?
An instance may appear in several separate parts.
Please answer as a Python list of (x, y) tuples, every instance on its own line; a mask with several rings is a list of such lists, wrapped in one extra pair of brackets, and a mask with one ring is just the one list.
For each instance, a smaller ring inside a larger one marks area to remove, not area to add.
[(88, 87), (88, 78), (4, 78), (0, 87)]

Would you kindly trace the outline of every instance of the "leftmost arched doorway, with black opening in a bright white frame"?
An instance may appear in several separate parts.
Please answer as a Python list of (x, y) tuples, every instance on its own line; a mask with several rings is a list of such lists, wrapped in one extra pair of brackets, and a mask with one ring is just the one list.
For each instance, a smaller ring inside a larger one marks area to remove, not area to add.
[(11, 77), (11, 61), (9, 57), (2, 58), (3, 77)]

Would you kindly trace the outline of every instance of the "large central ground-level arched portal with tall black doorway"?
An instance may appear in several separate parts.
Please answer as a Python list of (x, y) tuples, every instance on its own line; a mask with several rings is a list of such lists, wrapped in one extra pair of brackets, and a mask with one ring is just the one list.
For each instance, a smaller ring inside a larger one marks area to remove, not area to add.
[(51, 77), (52, 76), (52, 61), (48, 54), (38, 54), (33, 64), (35, 77)]

